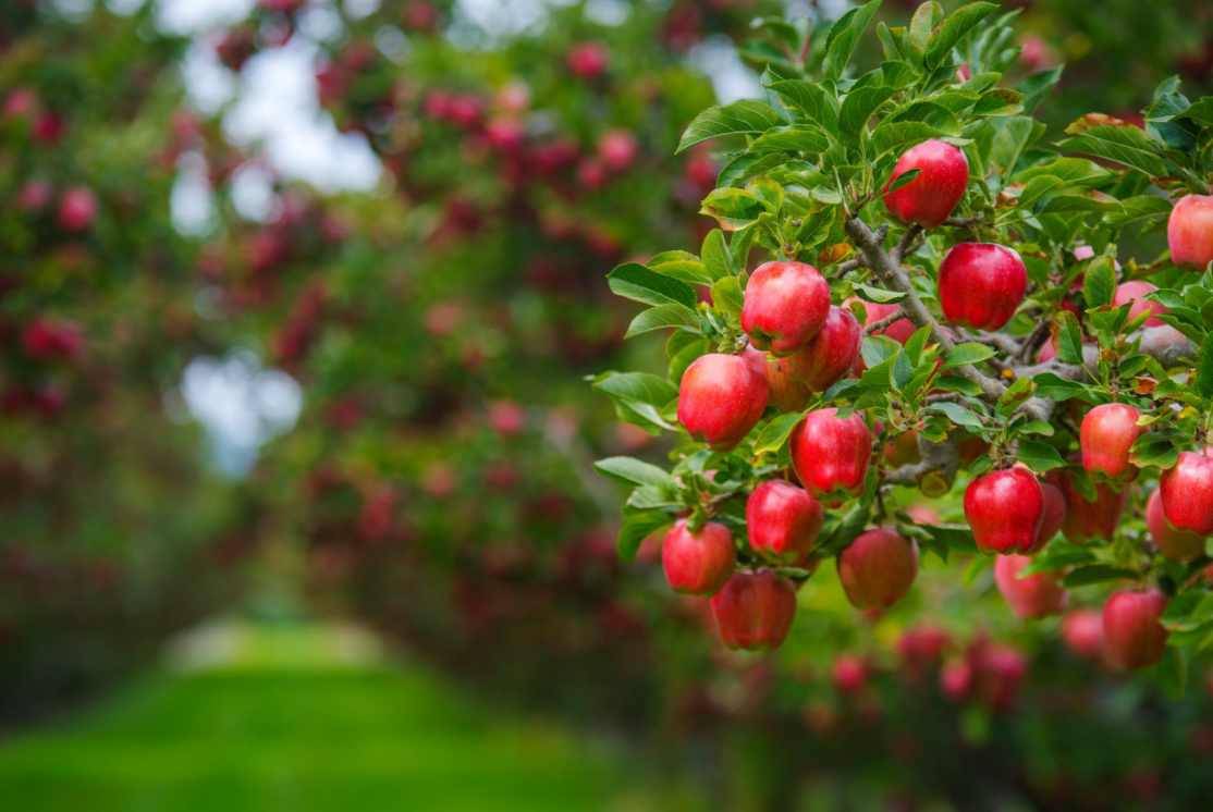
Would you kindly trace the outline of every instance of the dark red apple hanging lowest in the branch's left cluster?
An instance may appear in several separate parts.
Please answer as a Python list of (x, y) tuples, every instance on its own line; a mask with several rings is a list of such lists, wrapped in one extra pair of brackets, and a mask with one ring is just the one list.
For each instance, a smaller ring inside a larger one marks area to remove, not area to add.
[(779, 648), (792, 628), (796, 590), (770, 570), (736, 572), (712, 596), (712, 614), (729, 648)]

